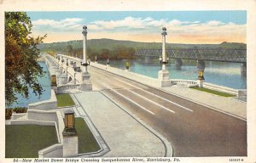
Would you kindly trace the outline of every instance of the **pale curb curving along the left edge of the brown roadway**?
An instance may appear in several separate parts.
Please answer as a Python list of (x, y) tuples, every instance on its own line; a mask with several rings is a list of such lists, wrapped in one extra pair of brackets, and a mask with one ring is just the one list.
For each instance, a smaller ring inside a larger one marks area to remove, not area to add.
[(114, 101), (112, 98), (109, 98), (108, 95), (106, 93), (103, 93), (102, 91), (99, 91), (100, 93), (102, 93), (102, 95), (104, 95), (106, 98), (108, 98), (110, 101), (113, 102), (113, 104), (115, 104), (116, 106), (119, 107), (119, 109), (125, 111), (126, 114), (130, 115), (132, 119), (134, 119), (135, 121), (137, 121), (139, 124), (141, 124), (143, 127), (145, 127), (149, 132), (151, 132), (152, 134), (154, 134), (155, 137), (159, 138), (161, 143), (164, 144), (165, 146), (165, 155), (164, 157), (172, 157), (173, 156), (173, 149), (172, 149), (172, 143), (170, 143), (167, 138), (165, 138), (164, 136), (162, 136), (159, 132), (157, 132), (156, 130), (154, 130), (154, 128), (152, 128), (151, 126), (148, 126), (148, 124), (146, 124), (145, 122), (143, 122), (142, 120), (140, 120), (137, 115), (134, 115), (131, 113), (130, 110), (125, 109), (125, 107), (122, 104), (119, 104), (117, 101)]

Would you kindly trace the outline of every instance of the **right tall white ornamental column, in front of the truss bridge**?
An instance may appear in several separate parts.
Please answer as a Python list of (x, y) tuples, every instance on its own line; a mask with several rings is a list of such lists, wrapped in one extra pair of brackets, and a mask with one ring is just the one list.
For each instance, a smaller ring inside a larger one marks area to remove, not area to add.
[(168, 60), (166, 59), (166, 27), (162, 28), (162, 59), (161, 59), (161, 64), (162, 64), (162, 70), (158, 72), (158, 79), (160, 81), (167, 81), (170, 79), (169, 77), (169, 71), (166, 70), (166, 64), (168, 64)]

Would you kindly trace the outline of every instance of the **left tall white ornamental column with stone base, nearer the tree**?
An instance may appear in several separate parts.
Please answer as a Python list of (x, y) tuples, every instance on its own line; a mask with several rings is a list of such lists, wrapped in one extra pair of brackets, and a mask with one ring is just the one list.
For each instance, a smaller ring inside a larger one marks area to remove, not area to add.
[(92, 85), (90, 83), (90, 74), (87, 70), (88, 61), (87, 61), (87, 26), (83, 26), (83, 31), (82, 34), (84, 36), (84, 41), (83, 41), (83, 62), (81, 65), (83, 66), (82, 70), (82, 77), (81, 77), (81, 82), (80, 82), (80, 90), (81, 91), (88, 91), (92, 89)]

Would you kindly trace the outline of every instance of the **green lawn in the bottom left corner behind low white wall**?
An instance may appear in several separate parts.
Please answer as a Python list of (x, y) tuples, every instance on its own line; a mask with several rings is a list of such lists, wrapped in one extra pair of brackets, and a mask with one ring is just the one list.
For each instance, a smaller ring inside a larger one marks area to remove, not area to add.
[(38, 150), (58, 143), (55, 126), (5, 126), (5, 157), (36, 158)]

